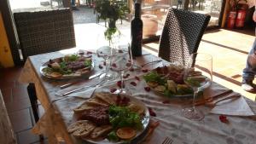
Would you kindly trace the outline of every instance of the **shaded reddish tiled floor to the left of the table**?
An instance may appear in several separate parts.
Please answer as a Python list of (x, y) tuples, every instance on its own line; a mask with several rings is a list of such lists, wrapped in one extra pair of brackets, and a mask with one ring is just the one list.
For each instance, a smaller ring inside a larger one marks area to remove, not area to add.
[[(13, 125), (18, 143), (44, 143), (44, 141), (39, 141), (38, 135), (31, 133), (32, 126), (35, 122), (32, 117), (32, 109), (26, 92), (26, 84), (20, 84), (17, 81), (21, 69), (22, 67), (1, 69), (0, 89), (3, 94), (3, 100), (9, 112), (9, 118)], [(40, 108), (42, 109), (42, 107)]]

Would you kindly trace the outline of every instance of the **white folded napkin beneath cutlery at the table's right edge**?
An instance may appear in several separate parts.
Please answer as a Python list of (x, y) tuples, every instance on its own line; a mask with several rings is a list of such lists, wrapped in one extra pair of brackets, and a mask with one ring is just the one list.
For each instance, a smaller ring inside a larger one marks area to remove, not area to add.
[[(211, 87), (209, 89), (206, 89), (204, 91), (205, 97), (211, 97), (214, 95), (218, 95), (226, 91), (227, 88), (212, 83)], [(236, 95), (236, 92), (232, 92), (229, 95)], [(226, 95), (226, 96), (229, 96)], [(212, 108), (211, 113), (215, 114), (225, 114), (225, 115), (231, 115), (231, 116), (253, 116), (255, 115), (251, 108), (248, 106), (247, 101), (245, 101), (243, 96), (240, 96), (237, 99), (230, 99), (226, 101), (219, 102), (215, 107)]]

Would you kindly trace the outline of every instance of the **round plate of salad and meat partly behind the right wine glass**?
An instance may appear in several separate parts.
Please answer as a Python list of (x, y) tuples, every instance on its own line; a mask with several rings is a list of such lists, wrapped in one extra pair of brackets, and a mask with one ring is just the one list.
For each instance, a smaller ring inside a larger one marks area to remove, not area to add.
[(170, 98), (192, 97), (193, 90), (183, 83), (183, 71), (183, 66), (170, 64), (170, 66), (155, 68), (144, 75), (143, 79), (156, 95), (165, 95)]

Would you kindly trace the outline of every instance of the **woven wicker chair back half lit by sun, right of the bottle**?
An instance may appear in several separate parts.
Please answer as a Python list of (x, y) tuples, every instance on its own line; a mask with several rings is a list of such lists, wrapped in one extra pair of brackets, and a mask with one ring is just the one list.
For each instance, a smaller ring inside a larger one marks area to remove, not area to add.
[(186, 65), (189, 55), (196, 53), (210, 15), (182, 9), (169, 9), (160, 36), (159, 56)]

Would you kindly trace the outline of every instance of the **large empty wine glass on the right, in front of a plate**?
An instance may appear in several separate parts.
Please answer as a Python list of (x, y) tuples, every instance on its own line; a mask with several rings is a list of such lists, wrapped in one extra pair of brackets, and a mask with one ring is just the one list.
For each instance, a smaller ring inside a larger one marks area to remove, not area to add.
[(183, 108), (183, 116), (191, 120), (201, 120), (204, 114), (195, 108), (198, 92), (212, 84), (212, 55), (194, 53), (190, 55), (183, 75), (184, 83), (194, 90), (193, 107)]

